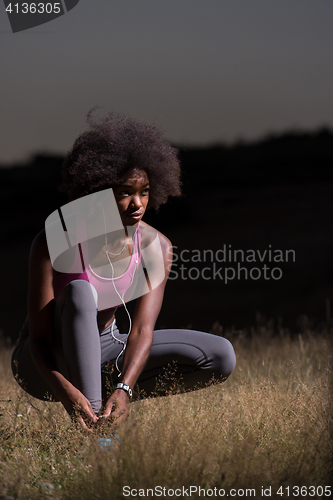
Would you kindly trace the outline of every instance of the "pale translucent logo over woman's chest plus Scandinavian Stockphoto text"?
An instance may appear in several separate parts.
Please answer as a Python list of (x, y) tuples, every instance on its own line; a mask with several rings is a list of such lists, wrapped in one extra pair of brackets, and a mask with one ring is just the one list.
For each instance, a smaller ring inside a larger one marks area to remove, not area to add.
[[(158, 232), (135, 218), (131, 226), (124, 227), (112, 188), (59, 207), (47, 217), (45, 234), (52, 267), (62, 275), (62, 286), (74, 279), (89, 281), (95, 288), (103, 285), (98, 310), (141, 297), (165, 279), (166, 256)], [(264, 249), (224, 244), (217, 250), (177, 246), (171, 250), (170, 280), (219, 280), (225, 284), (280, 280), (285, 263), (296, 260), (295, 250), (271, 244)]]

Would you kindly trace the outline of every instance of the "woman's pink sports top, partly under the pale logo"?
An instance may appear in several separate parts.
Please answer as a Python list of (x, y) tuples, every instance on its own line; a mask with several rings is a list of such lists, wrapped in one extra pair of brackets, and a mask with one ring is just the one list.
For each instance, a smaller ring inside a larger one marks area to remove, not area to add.
[[(135, 230), (133, 251), (128, 268), (121, 276), (115, 278), (103, 278), (96, 274), (89, 263), (88, 242), (85, 240), (77, 245), (75, 261), (72, 266), (78, 269), (78, 264), (82, 267), (80, 273), (59, 273), (53, 271), (54, 298), (57, 299), (66, 285), (74, 280), (84, 280), (91, 283), (97, 291), (99, 311), (112, 309), (123, 305), (133, 298), (134, 290), (138, 280), (138, 268), (141, 262), (141, 231), (140, 223)], [(122, 297), (123, 301), (120, 297)]]

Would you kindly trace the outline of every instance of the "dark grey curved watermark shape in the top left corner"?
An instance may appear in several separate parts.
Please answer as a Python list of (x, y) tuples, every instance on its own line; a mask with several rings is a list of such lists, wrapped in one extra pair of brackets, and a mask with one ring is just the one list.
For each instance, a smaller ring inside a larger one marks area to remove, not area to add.
[(79, 0), (14, 1), (4, 0), (5, 11), (13, 33), (53, 21), (74, 9)]

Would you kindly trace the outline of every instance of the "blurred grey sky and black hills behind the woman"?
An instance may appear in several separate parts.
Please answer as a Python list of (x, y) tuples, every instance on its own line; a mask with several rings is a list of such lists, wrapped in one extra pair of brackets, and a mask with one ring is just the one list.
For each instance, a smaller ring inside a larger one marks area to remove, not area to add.
[(279, 267), (278, 280), (205, 279), (211, 261), (184, 262), (182, 279), (178, 260), (157, 327), (209, 331), (216, 322), (240, 329), (271, 320), (301, 329), (330, 321), (332, 16), (328, 0), (80, 0), (64, 16), (13, 34), (3, 10), (3, 334), (18, 336), (29, 247), (66, 203), (57, 192), (61, 163), (95, 105), (156, 123), (179, 148), (184, 196), (145, 218), (175, 255), (224, 245), (295, 251), (295, 261), (244, 264)]

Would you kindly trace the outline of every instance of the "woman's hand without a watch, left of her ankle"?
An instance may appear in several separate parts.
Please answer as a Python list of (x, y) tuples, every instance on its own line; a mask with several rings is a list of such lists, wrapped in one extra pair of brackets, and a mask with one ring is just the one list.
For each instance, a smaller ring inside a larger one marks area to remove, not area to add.
[(82, 392), (69, 383), (60, 395), (57, 394), (57, 397), (67, 413), (80, 424), (81, 428), (91, 432), (89, 423), (98, 422), (98, 417)]

